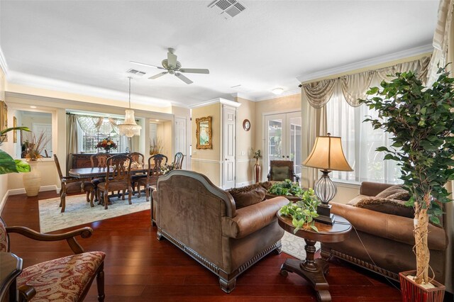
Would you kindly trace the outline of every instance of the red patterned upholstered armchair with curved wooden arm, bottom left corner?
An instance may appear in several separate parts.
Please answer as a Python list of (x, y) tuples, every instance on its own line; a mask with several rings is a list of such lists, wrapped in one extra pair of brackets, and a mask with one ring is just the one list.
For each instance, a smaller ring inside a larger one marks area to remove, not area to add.
[(18, 233), (33, 240), (67, 240), (75, 255), (34, 264), (17, 277), (19, 301), (84, 301), (96, 276), (98, 301), (104, 301), (104, 252), (84, 252), (74, 238), (87, 238), (92, 228), (63, 234), (43, 234), (25, 227), (6, 227), (0, 217), (0, 252), (9, 252), (9, 234)]

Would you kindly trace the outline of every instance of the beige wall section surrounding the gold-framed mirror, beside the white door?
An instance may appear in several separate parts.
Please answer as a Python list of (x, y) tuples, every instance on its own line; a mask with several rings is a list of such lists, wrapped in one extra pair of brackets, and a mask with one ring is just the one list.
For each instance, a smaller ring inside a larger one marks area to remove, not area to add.
[[(196, 119), (212, 116), (213, 149), (196, 149)], [(221, 186), (221, 104), (192, 109), (192, 157), (191, 169), (208, 177), (213, 184)]]

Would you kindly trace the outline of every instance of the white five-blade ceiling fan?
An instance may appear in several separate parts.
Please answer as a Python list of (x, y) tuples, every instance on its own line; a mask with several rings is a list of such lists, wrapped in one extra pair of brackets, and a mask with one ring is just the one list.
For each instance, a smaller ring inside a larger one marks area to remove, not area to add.
[(162, 67), (156, 66), (156, 65), (150, 65), (150, 64), (145, 64), (145, 63), (140, 63), (140, 62), (134, 62), (134, 61), (129, 61), (133, 64), (137, 65), (143, 65), (143, 66), (148, 66), (148, 67), (156, 67), (157, 69), (164, 69), (166, 70), (165, 72), (160, 72), (159, 74), (155, 74), (152, 77), (149, 77), (148, 79), (157, 79), (158, 77), (162, 77), (165, 74), (174, 74), (175, 77), (178, 79), (181, 79), (184, 83), (186, 84), (192, 84), (192, 81), (185, 77), (182, 72), (184, 73), (192, 73), (192, 74), (209, 74), (210, 71), (208, 69), (194, 69), (194, 68), (182, 68), (182, 64), (177, 61), (177, 55), (175, 55), (173, 52), (175, 50), (173, 48), (168, 49), (169, 52), (167, 52), (167, 59), (162, 60), (161, 64)]

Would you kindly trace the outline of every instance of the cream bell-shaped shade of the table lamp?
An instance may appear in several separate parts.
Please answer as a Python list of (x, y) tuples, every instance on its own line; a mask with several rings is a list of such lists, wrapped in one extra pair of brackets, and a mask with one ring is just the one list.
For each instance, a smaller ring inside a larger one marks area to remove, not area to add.
[(330, 135), (316, 138), (314, 148), (303, 164), (328, 171), (353, 171), (345, 160), (341, 138)]

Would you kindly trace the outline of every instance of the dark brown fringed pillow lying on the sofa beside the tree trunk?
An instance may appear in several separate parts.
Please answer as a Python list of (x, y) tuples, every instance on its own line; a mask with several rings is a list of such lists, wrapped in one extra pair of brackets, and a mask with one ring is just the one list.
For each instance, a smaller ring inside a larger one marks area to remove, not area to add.
[(405, 206), (405, 201), (396, 199), (367, 197), (354, 205), (357, 208), (367, 208), (385, 214), (414, 218), (414, 208)]

